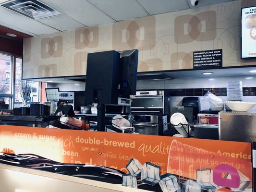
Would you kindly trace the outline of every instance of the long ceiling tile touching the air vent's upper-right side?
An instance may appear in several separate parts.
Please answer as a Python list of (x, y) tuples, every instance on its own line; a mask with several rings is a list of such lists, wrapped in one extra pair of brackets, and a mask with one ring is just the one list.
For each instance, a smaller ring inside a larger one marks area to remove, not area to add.
[(86, 26), (114, 22), (108, 15), (86, 0), (41, 0), (53, 9)]

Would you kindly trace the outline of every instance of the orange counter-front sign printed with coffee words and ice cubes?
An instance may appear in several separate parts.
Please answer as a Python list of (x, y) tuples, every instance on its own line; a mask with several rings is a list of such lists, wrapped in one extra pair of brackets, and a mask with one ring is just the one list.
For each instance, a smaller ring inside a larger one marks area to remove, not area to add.
[[(168, 191), (166, 182), (174, 192), (252, 191), (250, 143), (0, 125), (0, 152), (0, 163), (8, 154), (34, 154), (63, 165), (118, 170), (121, 184), (131, 179), (132, 187), (146, 183), (151, 191)], [(150, 181), (149, 169), (156, 174)]]

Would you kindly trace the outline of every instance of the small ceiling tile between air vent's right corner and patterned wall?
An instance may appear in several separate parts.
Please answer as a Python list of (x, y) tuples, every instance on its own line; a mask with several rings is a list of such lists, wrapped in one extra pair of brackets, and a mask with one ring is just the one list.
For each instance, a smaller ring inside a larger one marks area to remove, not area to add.
[(84, 24), (81, 24), (81, 23), (73, 20), (72, 18), (67, 17), (66, 15), (58, 15), (58, 16), (54, 16), (54, 17), (40, 19), (40, 20), (38, 20), (38, 22), (47, 24), (47, 25), (49, 25), (55, 29), (58, 29), (60, 31), (67, 31), (67, 30), (85, 27)]

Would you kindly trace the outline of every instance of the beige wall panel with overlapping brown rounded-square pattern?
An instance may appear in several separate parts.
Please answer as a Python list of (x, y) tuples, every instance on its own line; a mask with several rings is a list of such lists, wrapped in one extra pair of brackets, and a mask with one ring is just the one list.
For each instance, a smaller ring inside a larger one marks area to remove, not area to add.
[(23, 78), (85, 75), (87, 54), (139, 50), (138, 72), (193, 69), (193, 51), (222, 49), (223, 67), (241, 60), (241, 4), (235, 0), (24, 39)]

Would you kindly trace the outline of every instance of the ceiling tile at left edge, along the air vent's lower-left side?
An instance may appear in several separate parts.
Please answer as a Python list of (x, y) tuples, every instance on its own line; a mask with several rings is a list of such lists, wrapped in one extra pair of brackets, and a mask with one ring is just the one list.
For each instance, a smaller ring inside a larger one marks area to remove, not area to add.
[(41, 24), (2, 6), (0, 6), (0, 18), (1, 25), (32, 36), (59, 32), (54, 28)]

